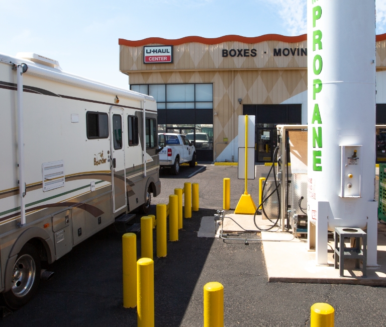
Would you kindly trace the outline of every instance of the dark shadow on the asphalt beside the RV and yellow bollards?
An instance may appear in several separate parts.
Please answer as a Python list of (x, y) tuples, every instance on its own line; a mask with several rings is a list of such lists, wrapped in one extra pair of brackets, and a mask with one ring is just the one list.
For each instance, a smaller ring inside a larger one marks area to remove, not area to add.
[[(179, 241), (167, 243), (167, 257), (156, 257), (153, 233), (155, 325), (178, 326), (211, 249), (213, 238), (199, 238), (200, 209), (183, 219)], [(155, 206), (151, 206), (155, 213)], [(36, 296), (7, 316), (3, 326), (136, 326), (136, 309), (122, 306), (122, 233), (111, 225), (49, 265), (54, 278), (42, 281)], [(141, 238), (137, 237), (140, 258)]]

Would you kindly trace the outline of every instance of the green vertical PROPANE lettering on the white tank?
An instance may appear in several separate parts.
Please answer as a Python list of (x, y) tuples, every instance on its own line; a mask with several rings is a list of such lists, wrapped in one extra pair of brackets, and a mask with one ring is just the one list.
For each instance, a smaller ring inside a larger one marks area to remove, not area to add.
[[(313, 1), (315, 3), (315, 1)], [(312, 9), (312, 26), (316, 28), (317, 20), (322, 17), (322, 8), (320, 6), (315, 6)], [(322, 46), (322, 31), (315, 30), (313, 31), (312, 38), (312, 50), (320, 51), (323, 49)], [(314, 56), (313, 61), (313, 71), (315, 77), (322, 72), (323, 69), (323, 60), (320, 54), (316, 54)], [(322, 92), (322, 80), (319, 78), (313, 79), (313, 100), (316, 100), (316, 95)], [(320, 115), (319, 105), (315, 103), (314, 112), (311, 118), (311, 124), (319, 124), (322, 125), (322, 117)], [(312, 147), (313, 148), (322, 148), (322, 126), (313, 126), (312, 127)], [(315, 172), (322, 171), (322, 151), (321, 150), (313, 150), (313, 170)]]

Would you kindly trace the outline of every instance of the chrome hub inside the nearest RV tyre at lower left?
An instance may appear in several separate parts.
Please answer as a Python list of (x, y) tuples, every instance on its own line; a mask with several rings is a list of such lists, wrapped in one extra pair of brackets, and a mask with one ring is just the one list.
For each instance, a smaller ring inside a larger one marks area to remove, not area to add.
[(12, 292), (17, 297), (25, 296), (36, 278), (35, 261), (30, 255), (21, 256), (15, 263), (12, 274)]

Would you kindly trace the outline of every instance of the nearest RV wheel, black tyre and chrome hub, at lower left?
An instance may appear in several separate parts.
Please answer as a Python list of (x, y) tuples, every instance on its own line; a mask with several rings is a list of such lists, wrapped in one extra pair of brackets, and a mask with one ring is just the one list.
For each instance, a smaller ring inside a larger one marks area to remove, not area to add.
[(12, 288), (4, 293), (11, 309), (19, 309), (35, 295), (40, 282), (40, 257), (34, 246), (25, 244), (13, 269)]

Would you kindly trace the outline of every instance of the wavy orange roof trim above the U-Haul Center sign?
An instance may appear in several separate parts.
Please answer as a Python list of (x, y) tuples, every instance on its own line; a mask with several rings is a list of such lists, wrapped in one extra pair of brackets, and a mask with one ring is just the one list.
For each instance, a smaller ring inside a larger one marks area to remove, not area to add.
[(164, 44), (164, 45), (180, 45), (183, 43), (189, 43), (189, 42), (197, 42), (197, 43), (203, 43), (203, 44), (219, 44), (223, 42), (229, 42), (229, 41), (237, 41), (242, 43), (259, 43), (264, 41), (282, 41), (282, 42), (288, 42), (288, 43), (296, 43), (296, 42), (302, 42), (307, 40), (307, 34), (299, 35), (299, 36), (284, 36), (279, 34), (265, 34), (261, 36), (256, 37), (245, 37), (240, 35), (225, 35), (221, 37), (217, 37), (214, 39), (208, 39), (201, 36), (186, 36), (180, 39), (170, 40), (170, 39), (163, 39), (160, 37), (149, 37), (147, 39), (139, 40), (139, 41), (129, 41), (125, 39), (118, 39), (119, 45), (127, 45), (129, 47), (140, 47), (146, 44)]

